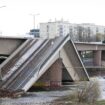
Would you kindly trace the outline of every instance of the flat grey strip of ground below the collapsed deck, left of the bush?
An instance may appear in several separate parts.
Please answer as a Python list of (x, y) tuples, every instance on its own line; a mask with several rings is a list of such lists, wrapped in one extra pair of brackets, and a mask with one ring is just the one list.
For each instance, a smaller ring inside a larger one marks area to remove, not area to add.
[(20, 98), (1, 98), (0, 105), (51, 105), (55, 104), (54, 100), (69, 95), (70, 93), (70, 90), (28, 92)]

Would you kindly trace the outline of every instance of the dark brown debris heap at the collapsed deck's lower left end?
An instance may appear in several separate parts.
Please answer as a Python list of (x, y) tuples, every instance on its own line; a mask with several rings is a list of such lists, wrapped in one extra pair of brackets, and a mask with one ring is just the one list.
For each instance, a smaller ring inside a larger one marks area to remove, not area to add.
[(25, 92), (23, 90), (7, 90), (0, 89), (0, 98), (17, 98), (21, 97)]

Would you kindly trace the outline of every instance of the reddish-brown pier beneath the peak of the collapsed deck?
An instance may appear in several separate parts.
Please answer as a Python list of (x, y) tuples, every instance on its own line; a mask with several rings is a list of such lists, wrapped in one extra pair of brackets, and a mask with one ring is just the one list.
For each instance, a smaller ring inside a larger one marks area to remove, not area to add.
[(60, 87), (62, 85), (62, 59), (57, 59), (34, 84), (38, 87)]

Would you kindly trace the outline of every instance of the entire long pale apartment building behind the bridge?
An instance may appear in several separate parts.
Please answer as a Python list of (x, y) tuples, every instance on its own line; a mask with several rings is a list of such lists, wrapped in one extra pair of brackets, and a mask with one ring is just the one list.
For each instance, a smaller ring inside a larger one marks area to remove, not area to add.
[(40, 23), (40, 37), (54, 38), (70, 34), (74, 41), (97, 41), (105, 36), (105, 26), (83, 23), (73, 24), (68, 21)]

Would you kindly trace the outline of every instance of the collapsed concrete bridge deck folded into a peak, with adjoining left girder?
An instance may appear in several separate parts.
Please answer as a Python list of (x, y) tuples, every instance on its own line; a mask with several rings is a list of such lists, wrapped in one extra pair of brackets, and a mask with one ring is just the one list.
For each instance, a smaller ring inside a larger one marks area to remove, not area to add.
[[(62, 59), (73, 81), (89, 80), (69, 35), (55, 39), (2, 37), (0, 51), (1, 56), (8, 55), (0, 64), (0, 88), (27, 91), (58, 59)], [(55, 72), (52, 71), (52, 81)], [(55, 76), (61, 77), (59, 72)]]

